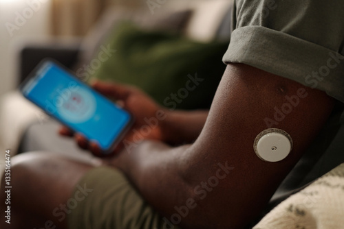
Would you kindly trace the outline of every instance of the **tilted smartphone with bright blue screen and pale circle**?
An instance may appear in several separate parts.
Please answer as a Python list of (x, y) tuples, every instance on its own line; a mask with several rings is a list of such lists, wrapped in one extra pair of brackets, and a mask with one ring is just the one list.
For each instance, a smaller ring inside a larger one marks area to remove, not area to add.
[(23, 96), (110, 154), (133, 123), (130, 113), (78, 80), (54, 60), (43, 60), (21, 85)]

